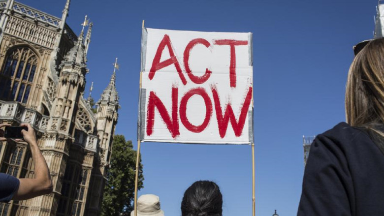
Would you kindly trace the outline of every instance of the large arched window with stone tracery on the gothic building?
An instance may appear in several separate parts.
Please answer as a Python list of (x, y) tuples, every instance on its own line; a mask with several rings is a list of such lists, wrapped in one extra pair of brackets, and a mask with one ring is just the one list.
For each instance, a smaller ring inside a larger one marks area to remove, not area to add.
[(27, 103), (36, 68), (37, 57), (30, 48), (11, 50), (0, 71), (0, 99)]

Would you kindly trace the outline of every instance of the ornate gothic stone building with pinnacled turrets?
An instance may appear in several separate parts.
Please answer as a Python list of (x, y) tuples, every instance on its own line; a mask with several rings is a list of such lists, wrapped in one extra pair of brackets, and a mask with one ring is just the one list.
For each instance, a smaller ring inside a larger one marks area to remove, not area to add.
[[(0, 204), (0, 216), (100, 213), (119, 109), (115, 72), (94, 114), (83, 97), (92, 24), (77, 36), (66, 24), (69, 1), (60, 19), (0, 0), (0, 123), (32, 124), (54, 184), (49, 195)], [(26, 143), (0, 142), (0, 172), (33, 178)]]

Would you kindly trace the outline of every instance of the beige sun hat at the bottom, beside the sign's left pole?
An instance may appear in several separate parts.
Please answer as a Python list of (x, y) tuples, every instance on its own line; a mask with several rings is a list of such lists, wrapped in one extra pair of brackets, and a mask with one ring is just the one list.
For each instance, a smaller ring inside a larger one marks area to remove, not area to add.
[[(134, 216), (135, 211), (130, 213)], [(160, 209), (160, 199), (154, 194), (143, 194), (137, 199), (137, 216), (164, 216)]]

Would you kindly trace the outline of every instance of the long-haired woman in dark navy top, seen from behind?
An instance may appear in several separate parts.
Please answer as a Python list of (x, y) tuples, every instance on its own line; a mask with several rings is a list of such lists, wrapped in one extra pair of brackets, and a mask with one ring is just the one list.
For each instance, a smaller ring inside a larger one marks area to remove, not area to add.
[(355, 46), (347, 123), (316, 137), (298, 216), (384, 215), (384, 39)]

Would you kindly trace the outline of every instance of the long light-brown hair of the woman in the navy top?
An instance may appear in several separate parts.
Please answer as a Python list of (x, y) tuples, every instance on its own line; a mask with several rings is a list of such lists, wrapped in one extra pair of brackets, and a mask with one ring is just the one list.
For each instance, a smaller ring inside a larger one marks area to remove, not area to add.
[(384, 123), (384, 38), (370, 41), (354, 58), (345, 96), (347, 123)]

